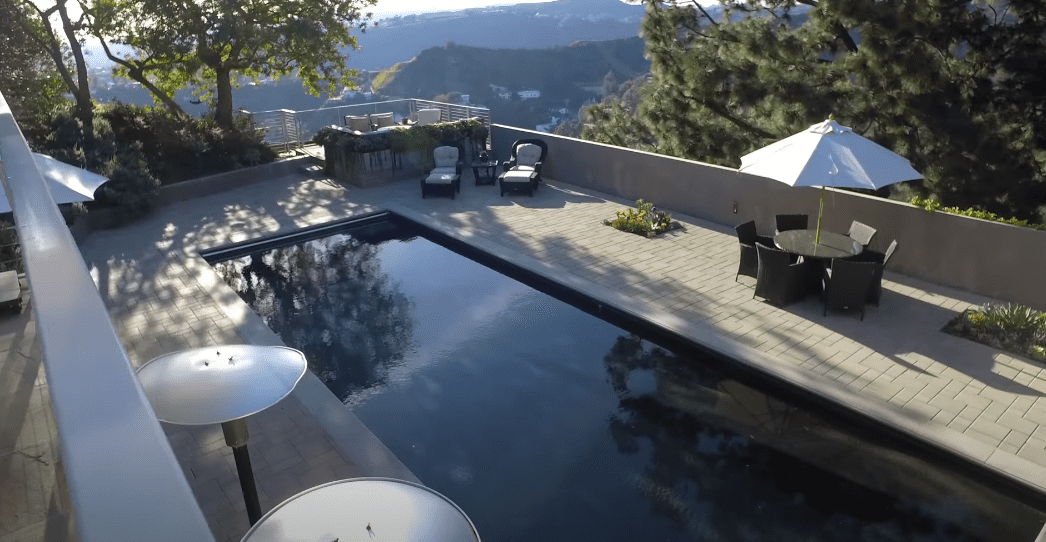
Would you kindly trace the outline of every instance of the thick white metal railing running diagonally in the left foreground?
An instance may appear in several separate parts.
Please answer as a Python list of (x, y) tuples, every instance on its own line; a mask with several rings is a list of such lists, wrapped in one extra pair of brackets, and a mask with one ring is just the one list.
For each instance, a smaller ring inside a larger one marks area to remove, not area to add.
[(213, 542), (2, 94), (0, 180), (22, 246), (78, 539)]

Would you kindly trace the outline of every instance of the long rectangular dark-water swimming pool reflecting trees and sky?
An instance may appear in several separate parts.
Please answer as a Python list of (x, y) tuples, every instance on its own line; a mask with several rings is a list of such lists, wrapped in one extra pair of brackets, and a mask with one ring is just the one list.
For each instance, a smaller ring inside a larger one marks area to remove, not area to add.
[(343, 228), (208, 258), (487, 542), (1030, 541), (1046, 521), (932, 450), (425, 228)]

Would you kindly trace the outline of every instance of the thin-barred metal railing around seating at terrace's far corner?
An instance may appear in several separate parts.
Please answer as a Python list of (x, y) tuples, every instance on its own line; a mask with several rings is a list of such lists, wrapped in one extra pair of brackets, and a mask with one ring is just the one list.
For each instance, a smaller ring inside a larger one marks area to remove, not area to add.
[(399, 122), (404, 118), (412, 118), (418, 109), (438, 109), (444, 122), (478, 117), (486, 128), (491, 128), (491, 110), (487, 108), (417, 98), (388, 99), (301, 111), (277, 109), (248, 113), (248, 115), (255, 128), (266, 131), (265, 141), (269, 146), (290, 150), (311, 140), (323, 127), (343, 126), (346, 115), (392, 113)]

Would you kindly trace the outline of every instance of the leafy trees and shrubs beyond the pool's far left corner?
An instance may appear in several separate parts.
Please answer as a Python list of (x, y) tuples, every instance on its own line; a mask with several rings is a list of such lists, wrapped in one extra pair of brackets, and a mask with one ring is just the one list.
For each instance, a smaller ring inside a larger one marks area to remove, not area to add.
[[(241, 77), (292, 73), (311, 92), (350, 85), (351, 30), (366, 25), (361, 9), (374, 1), (0, 0), (0, 91), (36, 150), (108, 177), (98, 202), (133, 218), (153, 206), (161, 181), (271, 161), (260, 135), (237, 126), (232, 87)], [(100, 40), (117, 71), (163, 109), (98, 106), (87, 39)], [(118, 58), (107, 42), (135, 54)], [(213, 94), (211, 115), (185, 114), (172, 97), (185, 86)]]

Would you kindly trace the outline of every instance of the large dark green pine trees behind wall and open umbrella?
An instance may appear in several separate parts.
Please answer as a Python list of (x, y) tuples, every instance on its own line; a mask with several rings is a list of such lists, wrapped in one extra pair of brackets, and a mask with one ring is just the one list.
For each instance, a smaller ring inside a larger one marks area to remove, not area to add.
[(644, 3), (651, 77), (588, 108), (586, 139), (736, 167), (834, 114), (916, 195), (1046, 222), (1046, 2)]

